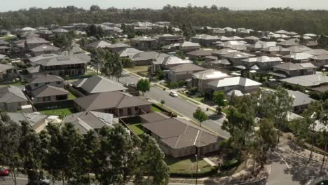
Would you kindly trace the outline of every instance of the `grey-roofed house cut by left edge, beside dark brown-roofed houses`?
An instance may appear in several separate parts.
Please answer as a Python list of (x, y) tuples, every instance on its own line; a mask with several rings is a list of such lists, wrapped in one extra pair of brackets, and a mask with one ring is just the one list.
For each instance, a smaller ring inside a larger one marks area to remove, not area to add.
[(22, 105), (28, 104), (27, 97), (22, 90), (13, 85), (0, 87), (0, 109), (17, 111)]

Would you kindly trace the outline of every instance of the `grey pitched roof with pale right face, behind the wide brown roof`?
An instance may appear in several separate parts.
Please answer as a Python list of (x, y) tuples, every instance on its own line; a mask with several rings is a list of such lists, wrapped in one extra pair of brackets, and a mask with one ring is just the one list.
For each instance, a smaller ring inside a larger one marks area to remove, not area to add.
[(127, 90), (120, 83), (111, 81), (109, 78), (104, 76), (92, 76), (90, 78), (82, 78), (72, 83), (76, 88), (82, 88), (89, 94), (103, 93), (110, 91)]

